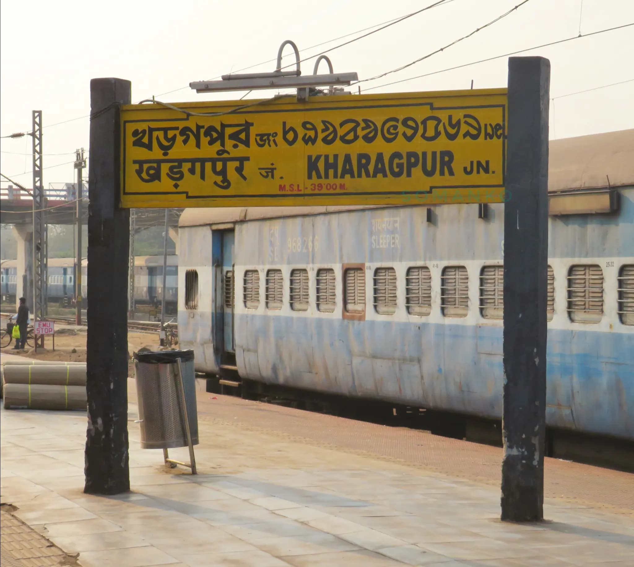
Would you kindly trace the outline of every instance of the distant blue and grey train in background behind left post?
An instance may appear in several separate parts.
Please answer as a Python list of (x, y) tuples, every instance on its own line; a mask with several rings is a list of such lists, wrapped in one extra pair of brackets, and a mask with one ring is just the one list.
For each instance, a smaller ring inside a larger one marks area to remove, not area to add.
[[(82, 297), (87, 297), (87, 259), (82, 260)], [(3, 260), (0, 264), (0, 285), (4, 302), (15, 302), (17, 260)], [(178, 300), (178, 257), (167, 257), (165, 303), (168, 310), (176, 309)], [(162, 300), (163, 257), (137, 256), (134, 258), (134, 301), (141, 305)], [(70, 300), (75, 295), (74, 258), (49, 258), (47, 297), (49, 302)]]

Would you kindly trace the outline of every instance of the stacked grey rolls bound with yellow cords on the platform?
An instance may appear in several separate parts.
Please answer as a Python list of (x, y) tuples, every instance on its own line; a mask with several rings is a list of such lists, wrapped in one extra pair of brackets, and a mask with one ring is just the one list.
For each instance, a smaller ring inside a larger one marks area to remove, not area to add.
[(86, 409), (86, 363), (11, 360), (2, 366), (5, 409)]

